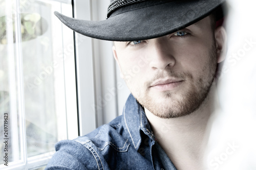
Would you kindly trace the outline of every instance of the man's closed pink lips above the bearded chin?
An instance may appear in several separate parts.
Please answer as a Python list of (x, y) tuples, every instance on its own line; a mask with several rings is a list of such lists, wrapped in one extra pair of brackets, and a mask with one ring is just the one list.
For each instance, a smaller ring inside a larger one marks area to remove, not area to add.
[(150, 87), (157, 89), (159, 91), (167, 91), (174, 89), (175, 87), (179, 86), (182, 82), (183, 80), (180, 79), (158, 80), (152, 83)]

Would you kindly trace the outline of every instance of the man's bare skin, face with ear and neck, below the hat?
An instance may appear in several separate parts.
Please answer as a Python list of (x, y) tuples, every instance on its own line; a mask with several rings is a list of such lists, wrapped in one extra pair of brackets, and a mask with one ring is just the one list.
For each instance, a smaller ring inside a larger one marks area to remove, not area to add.
[(178, 169), (204, 169), (205, 129), (214, 111), (212, 82), (225, 41), (224, 28), (212, 30), (208, 16), (173, 34), (113, 46), (121, 77)]

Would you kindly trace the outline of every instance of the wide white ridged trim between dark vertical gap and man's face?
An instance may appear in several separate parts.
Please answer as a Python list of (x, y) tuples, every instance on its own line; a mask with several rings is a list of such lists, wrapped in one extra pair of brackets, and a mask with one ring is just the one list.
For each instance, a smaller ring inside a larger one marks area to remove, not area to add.
[[(109, 3), (106, 0), (74, 0), (74, 17), (104, 20)], [(122, 114), (130, 91), (120, 78), (112, 54), (113, 42), (78, 33), (75, 36), (79, 130), (82, 136)]]

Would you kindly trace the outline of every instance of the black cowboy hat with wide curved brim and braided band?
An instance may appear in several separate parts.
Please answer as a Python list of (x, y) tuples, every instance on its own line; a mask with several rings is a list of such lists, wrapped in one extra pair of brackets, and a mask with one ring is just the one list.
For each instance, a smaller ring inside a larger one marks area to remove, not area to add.
[(107, 18), (90, 21), (54, 14), (69, 28), (110, 41), (157, 38), (179, 31), (213, 11), (222, 18), (225, 0), (112, 0)]

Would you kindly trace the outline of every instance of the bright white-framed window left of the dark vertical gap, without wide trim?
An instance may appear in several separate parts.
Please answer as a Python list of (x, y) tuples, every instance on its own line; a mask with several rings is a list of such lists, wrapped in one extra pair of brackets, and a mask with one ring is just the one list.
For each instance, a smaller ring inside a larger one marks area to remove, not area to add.
[[(54, 144), (78, 136), (71, 1), (0, 0), (2, 169), (45, 166)], [(8, 166), (7, 166), (8, 165)]]

